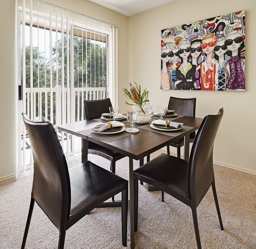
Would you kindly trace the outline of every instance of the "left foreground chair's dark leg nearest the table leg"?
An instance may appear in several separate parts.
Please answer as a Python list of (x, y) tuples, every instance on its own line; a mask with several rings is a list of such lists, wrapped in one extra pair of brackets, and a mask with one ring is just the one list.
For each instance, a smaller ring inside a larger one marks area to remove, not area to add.
[(127, 246), (128, 189), (122, 191), (122, 245)]

